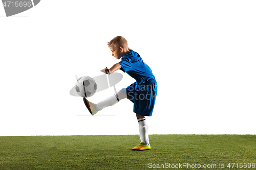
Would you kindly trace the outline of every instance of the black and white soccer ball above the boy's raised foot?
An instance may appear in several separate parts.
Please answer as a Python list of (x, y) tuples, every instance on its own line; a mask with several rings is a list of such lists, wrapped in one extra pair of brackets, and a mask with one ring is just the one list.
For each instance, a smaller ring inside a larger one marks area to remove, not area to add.
[(83, 98), (89, 98), (97, 90), (95, 80), (89, 76), (83, 76), (77, 79), (75, 85), (76, 92)]

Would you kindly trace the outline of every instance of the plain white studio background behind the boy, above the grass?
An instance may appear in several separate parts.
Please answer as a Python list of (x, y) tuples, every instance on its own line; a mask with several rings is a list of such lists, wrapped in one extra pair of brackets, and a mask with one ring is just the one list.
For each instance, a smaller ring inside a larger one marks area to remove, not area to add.
[[(91, 116), (75, 75), (119, 62), (121, 35), (158, 82), (150, 134), (255, 134), (255, 1), (45, 1), (0, 6), (0, 136), (138, 134), (133, 104)], [(135, 80), (123, 74), (117, 90)], [(109, 88), (89, 98), (97, 103)]]

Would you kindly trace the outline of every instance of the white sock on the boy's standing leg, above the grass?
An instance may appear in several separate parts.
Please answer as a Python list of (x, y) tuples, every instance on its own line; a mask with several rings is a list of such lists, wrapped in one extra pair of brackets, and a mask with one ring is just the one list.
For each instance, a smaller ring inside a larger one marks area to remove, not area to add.
[(140, 131), (140, 141), (144, 142), (145, 144), (149, 144), (150, 143), (150, 139), (148, 139), (148, 125), (147, 125), (147, 121), (146, 118), (139, 118), (138, 119), (138, 123), (139, 123), (139, 131)]

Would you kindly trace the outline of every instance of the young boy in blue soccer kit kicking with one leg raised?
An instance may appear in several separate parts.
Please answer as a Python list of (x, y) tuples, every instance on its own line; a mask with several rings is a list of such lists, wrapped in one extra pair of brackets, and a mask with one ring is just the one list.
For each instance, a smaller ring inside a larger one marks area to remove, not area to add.
[(111, 68), (104, 68), (101, 71), (105, 74), (112, 74), (118, 69), (126, 72), (136, 80), (130, 86), (121, 89), (115, 95), (94, 104), (83, 98), (84, 104), (92, 115), (105, 107), (112, 106), (122, 99), (129, 99), (134, 103), (134, 112), (139, 123), (139, 133), (141, 143), (134, 147), (134, 151), (150, 150), (150, 140), (148, 139), (148, 125), (145, 116), (151, 116), (156, 95), (157, 95), (157, 82), (150, 67), (148, 67), (140, 57), (140, 55), (131, 50), (127, 41), (122, 36), (113, 38), (109, 43), (109, 48), (112, 56), (116, 59), (122, 58), (119, 63), (114, 64)]

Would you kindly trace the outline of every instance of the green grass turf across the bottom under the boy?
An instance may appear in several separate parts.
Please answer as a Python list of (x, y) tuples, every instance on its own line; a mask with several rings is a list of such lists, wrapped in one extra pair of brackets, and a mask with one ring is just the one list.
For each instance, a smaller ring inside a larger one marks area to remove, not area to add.
[(148, 163), (216, 164), (215, 169), (225, 163), (222, 169), (229, 169), (231, 162), (256, 163), (256, 135), (150, 135), (150, 140), (152, 150), (141, 152), (131, 151), (139, 135), (0, 137), (0, 169), (159, 169)]

